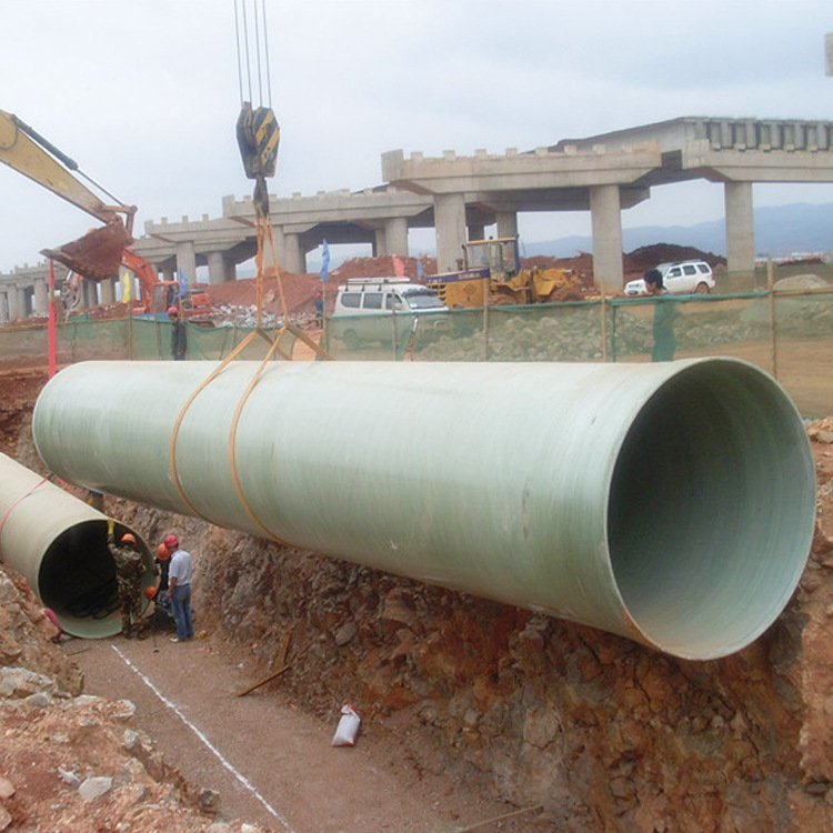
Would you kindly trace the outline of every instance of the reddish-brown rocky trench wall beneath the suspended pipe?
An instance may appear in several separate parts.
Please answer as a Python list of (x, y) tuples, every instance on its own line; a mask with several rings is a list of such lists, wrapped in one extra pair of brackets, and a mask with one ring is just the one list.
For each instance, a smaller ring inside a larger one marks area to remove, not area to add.
[[(313, 553), (138, 510), (197, 561), (200, 626), (280, 686), (365, 731), (415, 733), (428, 767), (460, 766), (573, 833), (833, 829), (826, 639), (831, 538), (762, 639), (712, 662)], [(830, 611), (830, 612), (829, 612)], [(560, 829), (560, 827), (559, 827)]]

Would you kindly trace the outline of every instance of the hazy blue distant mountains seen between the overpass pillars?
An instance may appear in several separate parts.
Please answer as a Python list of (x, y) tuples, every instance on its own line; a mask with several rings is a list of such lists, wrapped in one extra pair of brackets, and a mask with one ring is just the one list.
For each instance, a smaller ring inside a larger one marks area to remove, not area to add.
[[(693, 245), (713, 254), (726, 253), (723, 220), (696, 225), (644, 225), (623, 229), (622, 248), (626, 252), (643, 245), (676, 243)], [(782, 255), (793, 252), (833, 251), (833, 203), (811, 205), (795, 203), (755, 209), (755, 249), (760, 255)], [(576, 251), (592, 252), (589, 237), (573, 235), (542, 242), (523, 242), (523, 254), (548, 254), (571, 258)]]

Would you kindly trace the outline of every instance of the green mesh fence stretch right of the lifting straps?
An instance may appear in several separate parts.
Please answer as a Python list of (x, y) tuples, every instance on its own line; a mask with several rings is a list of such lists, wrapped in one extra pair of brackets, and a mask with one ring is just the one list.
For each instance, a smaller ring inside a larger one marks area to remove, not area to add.
[[(425, 325), (431, 318), (445, 324)], [(489, 307), (415, 320), (390, 313), (339, 317), (324, 322), (324, 333), (333, 358), (355, 361), (648, 362), (730, 355), (773, 374), (805, 415), (833, 414), (831, 289)]]

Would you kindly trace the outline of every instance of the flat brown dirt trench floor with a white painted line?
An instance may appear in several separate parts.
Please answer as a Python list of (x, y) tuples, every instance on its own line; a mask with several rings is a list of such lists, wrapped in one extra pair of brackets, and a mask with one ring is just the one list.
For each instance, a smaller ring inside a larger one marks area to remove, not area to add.
[[(237, 696), (258, 680), (244, 661), (223, 659), (210, 635), (184, 644), (168, 634), (73, 640), (66, 651), (84, 672), (86, 693), (136, 703), (138, 726), (189, 780), (220, 793), (222, 816), (289, 833), (452, 833), (515, 810), (490, 800), (482, 783), (431, 772), (424, 756), (405, 752), (407, 726), (363, 723), (355, 746), (337, 749), (340, 715), (323, 723), (304, 714), (280, 681)], [(520, 833), (535, 815), (476, 830)]]

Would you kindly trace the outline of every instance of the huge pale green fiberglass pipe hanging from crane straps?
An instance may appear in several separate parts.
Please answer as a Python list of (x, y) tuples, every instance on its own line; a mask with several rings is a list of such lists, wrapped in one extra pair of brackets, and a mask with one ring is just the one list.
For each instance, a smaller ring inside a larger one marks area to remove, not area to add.
[(74, 364), (38, 450), (88, 489), (682, 658), (749, 644), (804, 569), (810, 443), (746, 362), (259, 367)]

